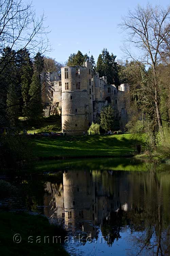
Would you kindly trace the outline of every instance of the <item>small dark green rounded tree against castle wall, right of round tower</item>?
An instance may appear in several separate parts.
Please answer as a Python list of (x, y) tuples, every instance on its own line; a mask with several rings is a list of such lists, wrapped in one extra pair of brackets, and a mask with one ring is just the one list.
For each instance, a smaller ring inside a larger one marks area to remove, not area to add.
[(100, 113), (100, 125), (107, 132), (114, 126), (114, 110), (112, 106), (105, 107)]

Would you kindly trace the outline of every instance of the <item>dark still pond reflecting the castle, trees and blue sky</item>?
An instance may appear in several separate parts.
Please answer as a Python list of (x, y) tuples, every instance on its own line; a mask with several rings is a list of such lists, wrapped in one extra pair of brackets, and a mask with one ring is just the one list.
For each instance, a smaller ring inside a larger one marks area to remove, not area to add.
[[(73, 255), (170, 255), (170, 166), (134, 159), (50, 161), (44, 177), (10, 181), (8, 210), (63, 223)], [(48, 175), (47, 175), (48, 173)]]

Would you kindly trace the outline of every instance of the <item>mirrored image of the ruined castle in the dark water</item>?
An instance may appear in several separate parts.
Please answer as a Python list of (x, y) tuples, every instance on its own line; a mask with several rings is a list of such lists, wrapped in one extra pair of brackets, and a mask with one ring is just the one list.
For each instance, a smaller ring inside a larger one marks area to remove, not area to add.
[(132, 208), (127, 175), (113, 171), (68, 169), (60, 185), (47, 182), (44, 213), (67, 229), (97, 238), (98, 229), (111, 214)]

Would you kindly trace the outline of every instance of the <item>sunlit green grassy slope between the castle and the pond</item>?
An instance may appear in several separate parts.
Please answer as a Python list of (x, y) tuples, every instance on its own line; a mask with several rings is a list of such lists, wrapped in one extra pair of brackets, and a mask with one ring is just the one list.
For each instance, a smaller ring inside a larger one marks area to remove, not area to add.
[(122, 157), (132, 155), (135, 145), (144, 140), (145, 134), (41, 138), (34, 141), (33, 153), (37, 157)]

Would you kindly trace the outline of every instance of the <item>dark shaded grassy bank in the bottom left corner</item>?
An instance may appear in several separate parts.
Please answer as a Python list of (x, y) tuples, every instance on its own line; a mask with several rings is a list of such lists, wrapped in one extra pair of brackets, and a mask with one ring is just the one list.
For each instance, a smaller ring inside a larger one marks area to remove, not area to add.
[[(53, 243), (53, 236), (62, 236), (64, 241), (66, 232), (57, 226), (50, 225), (46, 217), (27, 213), (0, 212), (0, 226), (2, 256), (68, 255), (61, 244)], [(14, 243), (14, 234), (20, 234), (20, 243)], [(32, 243), (28, 242), (30, 236), (33, 239)], [(36, 243), (38, 236), (40, 243)], [(50, 237), (49, 243), (48, 240), (44, 242), (45, 236)]]

